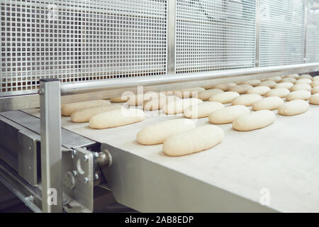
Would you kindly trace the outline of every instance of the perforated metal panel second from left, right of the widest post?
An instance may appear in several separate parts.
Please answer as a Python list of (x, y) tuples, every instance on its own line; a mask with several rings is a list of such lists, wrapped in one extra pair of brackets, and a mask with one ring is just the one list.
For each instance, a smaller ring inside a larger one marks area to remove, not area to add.
[(254, 67), (254, 0), (177, 0), (176, 72)]

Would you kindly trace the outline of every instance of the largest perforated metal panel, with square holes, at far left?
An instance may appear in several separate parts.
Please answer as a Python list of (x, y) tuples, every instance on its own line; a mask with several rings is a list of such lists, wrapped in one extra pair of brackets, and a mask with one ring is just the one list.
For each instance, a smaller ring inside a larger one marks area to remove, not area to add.
[(167, 0), (0, 1), (0, 96), (62, 82), (165, 74)]

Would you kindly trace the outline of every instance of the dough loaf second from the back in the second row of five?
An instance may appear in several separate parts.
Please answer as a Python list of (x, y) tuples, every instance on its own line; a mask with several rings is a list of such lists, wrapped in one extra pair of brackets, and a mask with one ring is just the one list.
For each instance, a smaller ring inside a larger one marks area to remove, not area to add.
[(165, 106), (163, 106), (163, 112), (165, 114), (181, 114), (183, 113), (184, 109), (188, 108), (189, 106), (202, 103), (201, 99), (178, 99), (176, 101), (171, 101)]

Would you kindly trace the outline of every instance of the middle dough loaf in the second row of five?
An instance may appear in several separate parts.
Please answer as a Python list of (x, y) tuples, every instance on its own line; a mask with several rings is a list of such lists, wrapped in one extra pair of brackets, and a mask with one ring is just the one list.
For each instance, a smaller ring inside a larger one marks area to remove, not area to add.
[(189, 106), (184, 110), (186, 118), (205, 118), (213, 111), (223, 109), (225, 106), (217, 101), (206, 101), (201, 104)]

